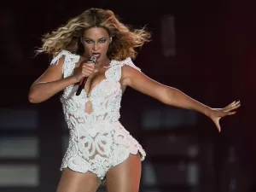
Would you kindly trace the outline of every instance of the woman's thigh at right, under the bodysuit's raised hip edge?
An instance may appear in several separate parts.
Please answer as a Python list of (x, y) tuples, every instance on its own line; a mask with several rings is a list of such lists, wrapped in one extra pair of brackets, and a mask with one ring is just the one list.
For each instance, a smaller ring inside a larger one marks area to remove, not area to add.
[(139, 154), (131, 154), (127, 160), (113, 166), (106, 176), (108, 192), (138, 192), (142, 164)]

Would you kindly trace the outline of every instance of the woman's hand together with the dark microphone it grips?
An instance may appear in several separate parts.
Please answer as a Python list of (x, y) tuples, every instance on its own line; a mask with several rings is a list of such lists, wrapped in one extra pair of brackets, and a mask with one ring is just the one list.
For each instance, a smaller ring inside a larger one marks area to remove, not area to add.
[(97, 70), (95, 70), (95, 64), (96, 64), (96, 57), (91, 56), (90, 60), (82, 61), (82, 63), (79, 66), (79, 69), (76, 71), (74, 75), (76, 75), (79, 82), (79, 89), (76, 92), (76, 96), (79, 96), (81, 91), (84, 89), (84, 85), (86, 83), (86, 80), (88, 77), (95, 73)]

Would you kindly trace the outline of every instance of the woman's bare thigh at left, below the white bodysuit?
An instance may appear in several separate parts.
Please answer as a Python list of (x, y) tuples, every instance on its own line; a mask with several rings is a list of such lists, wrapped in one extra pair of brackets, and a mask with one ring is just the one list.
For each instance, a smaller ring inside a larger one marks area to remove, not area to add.
[(101, 183), (100, 178), (92, 172), (73, 172), (63, 170), (57, 192), (95, 192)]

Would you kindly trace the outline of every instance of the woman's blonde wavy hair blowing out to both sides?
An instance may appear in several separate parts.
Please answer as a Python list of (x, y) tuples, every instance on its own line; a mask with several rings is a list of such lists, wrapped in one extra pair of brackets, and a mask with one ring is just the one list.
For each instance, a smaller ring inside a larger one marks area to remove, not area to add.
[(67, 24), (60, 26), (54, 32), (44, 34), (43, 46), (37, 49), (37, 53), (57, 55), (62, 49), (74, 54), (82, 55), (84, 47), (79, 38), (90, 27), (103, 27), (113, 38), (108, 47), (108, 58), (124, 60), (127, 57), (135, 58), (135, 48), (142, 47), (150, 41), (151, 33), (142, 29), (132, 29), (131, 26), (121, 23), (113, 11), (108, 9), (87, 9), (77, 17), (68, 20)]

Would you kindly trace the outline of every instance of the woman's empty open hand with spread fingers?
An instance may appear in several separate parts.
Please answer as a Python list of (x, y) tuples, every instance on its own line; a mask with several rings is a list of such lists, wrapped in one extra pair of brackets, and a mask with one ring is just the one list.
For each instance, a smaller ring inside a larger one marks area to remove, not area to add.
[(241, 106), (240, 101), (239, 102), (232, 102), (230, 105), (226, 106), (225, 108), (211, 108), (210, 113), (208, 113), (208, 117), (212, 119), (214, 124), (217, 126), (218, 132), (221, 131), (220, 125), (219, 125), (219, 119), (226, 115), (232, 115), (235, 114), (233, 110), (236, 108), (239, 108)]

